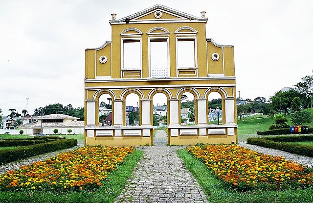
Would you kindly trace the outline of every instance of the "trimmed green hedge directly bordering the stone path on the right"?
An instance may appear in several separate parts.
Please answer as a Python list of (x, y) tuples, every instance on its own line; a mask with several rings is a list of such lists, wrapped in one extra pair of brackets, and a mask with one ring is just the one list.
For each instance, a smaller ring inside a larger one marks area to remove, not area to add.
[(247, 139), (247, 143), (251, 145), (258, 145), (261, 147), (278, 149), (285, 152), (313, 157), (313, 146), (292, 143), (301, 141), (313, 141), (313, 135), (280, 136), (268, 138), (249, 137)]

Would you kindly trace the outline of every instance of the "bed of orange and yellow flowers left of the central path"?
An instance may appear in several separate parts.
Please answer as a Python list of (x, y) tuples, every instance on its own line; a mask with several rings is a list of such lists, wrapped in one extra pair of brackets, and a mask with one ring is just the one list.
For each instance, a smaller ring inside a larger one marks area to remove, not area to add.
[(133, 147), (83, 147), (0, 175), (0, 190), (94, 190)]

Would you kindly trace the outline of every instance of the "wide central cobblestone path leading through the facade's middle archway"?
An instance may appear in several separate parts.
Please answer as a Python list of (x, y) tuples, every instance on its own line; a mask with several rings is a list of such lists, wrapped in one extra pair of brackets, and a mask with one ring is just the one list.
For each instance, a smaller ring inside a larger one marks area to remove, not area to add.
[[(160, 139), (167, 137), (164, 130), (156, 132), (161, 133)], [(156, 134), (156, 140), (158, 135)], [(139, 148), (144, 151), (143, 159), (117, 197), (116, 203), (208, 202), (197, 180), (184, 167), (176, 153), (183, 147), (167, 147), (165, 144), (156, 142), (154, 147)]]

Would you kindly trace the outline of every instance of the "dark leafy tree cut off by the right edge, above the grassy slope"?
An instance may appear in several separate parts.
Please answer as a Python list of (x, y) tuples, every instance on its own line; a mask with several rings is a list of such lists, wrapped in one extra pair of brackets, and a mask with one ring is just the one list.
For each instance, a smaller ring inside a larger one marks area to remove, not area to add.
[(301, 80), (302, 81), (295, 84), (294, 87), (298, 92), (307, 96), (311, 107), (313, 107), (313, 75), (304, 76)]

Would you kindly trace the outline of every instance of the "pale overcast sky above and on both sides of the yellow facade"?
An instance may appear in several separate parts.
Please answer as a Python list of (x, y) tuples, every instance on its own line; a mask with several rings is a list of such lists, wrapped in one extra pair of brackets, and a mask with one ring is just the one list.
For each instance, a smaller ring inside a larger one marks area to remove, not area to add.
[[(313, 1), (1, 0), (0, 108), (84, 105), (85, 49), (111, 40), (117, 19), (156, 3), (200, 16), (206, 37), (234, 45), (237, 91), (267, 99), (313, 70)], [(238, 92), (237, 92), (238, 94)]]

